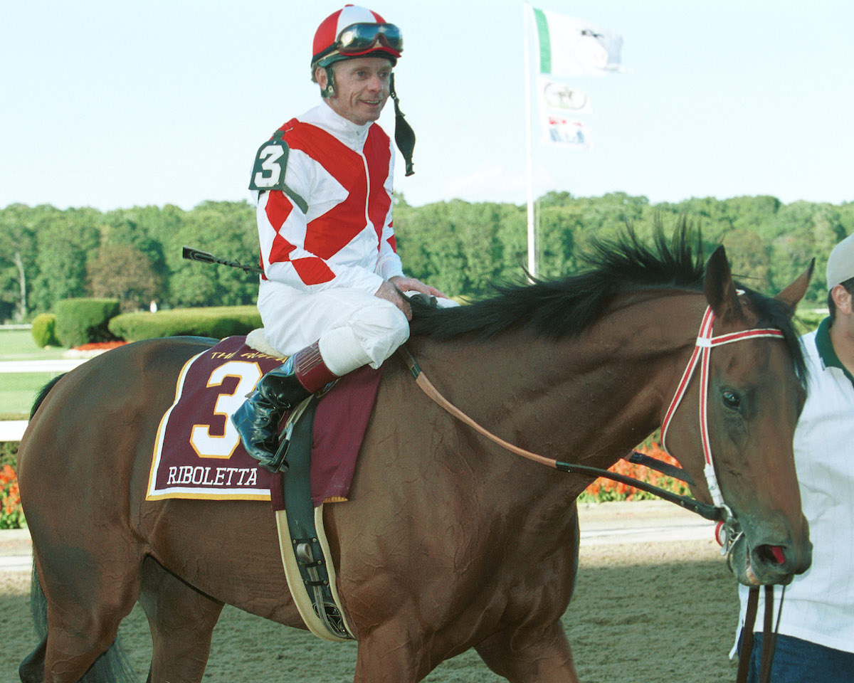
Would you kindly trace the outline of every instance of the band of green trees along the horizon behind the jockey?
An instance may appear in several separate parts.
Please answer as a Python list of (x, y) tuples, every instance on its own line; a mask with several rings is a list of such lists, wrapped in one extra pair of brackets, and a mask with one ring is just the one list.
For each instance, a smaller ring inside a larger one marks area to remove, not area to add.
[[(575, 197), (549, 192), (537, 202), (538, 275), (562, 277), (582, 267), (594, 237), (629, 224), (641, 236), (680, 219), (699, 228), (706, 253), (727, 248), (734, 274), (775, 294), (816, 258), (807, 298), (825, 298), (828, 253), (854, 232), (854, 201), (843, 204), (772, 196), (693, 198), (652, 204), (612, 193)], [(395, 196), (395, 233), (408, 275), (449, 295), (477, 297), (490, 286), (519, 282), (528, 261), (526, 208), (462, 200), (421, 207)], [(184, 260), (184, 245), (227, 259), (257, 262), (254, 207), (246, 201), (205, 201), (190, 211), (133, 207), (102, 213), (11, 204), (0, 209), (0, 321), (24, 322), (71, 297), (116, 298), (125, 311), (252, 304), (257, 276)]]

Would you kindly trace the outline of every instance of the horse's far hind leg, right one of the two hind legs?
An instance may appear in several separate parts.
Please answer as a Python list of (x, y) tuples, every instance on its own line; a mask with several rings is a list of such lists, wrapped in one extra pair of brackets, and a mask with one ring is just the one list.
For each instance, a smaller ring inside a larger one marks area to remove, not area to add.
[(149, 618), (154, 651), (149, 683), (197, 683), (223, 604), (199, 593), (150, 557), (143, 562), (139, 604)]

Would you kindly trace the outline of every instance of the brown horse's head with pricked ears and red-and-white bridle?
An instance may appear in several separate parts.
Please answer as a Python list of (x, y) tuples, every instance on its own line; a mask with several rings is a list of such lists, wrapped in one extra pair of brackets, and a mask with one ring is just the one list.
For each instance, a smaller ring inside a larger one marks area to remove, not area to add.
[[(705, 296), (714, 313), (707, 371), (699, 361), (685, 400), (672, 416), (668, 446), (699, 482), (694, 494), (724, 505), (725, 515), (731, 515), (729, 528), (742, 533), (732, 546), (730, 566), (746, 585), (787, 583), (810, 566), (812, 546), (793, 454), (804, 370), (789, 318), (811, 273), (810, 265), (775, 299), (740, 295), (723, 248), (712, 254), (705, 276)], [(729, 335), (757, 328), (785, 334), (757, 332), (730, 341)], [(707, 427), (698, 382), (707, 382)], [(698, 471), (704, 465), (711, 475)]]

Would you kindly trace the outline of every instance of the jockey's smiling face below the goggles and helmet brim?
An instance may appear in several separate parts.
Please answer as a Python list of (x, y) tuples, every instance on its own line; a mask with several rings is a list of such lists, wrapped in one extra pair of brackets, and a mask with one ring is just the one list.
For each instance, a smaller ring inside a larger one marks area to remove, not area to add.
[[(359, 57), (332, 65), (335, 95), (329, 102), (338, 114), (358, 126), (376, 121), (389, 99), (391, 62), (383, 57)], [(318, 71), (318, 84), (326, 86), (325, 70)]]

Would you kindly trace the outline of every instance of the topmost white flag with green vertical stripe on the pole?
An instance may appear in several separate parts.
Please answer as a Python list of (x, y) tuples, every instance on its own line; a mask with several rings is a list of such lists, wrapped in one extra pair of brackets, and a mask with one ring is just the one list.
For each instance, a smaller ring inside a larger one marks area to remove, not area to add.
[(588, 21), (534, 11), (540, 73), (555, 76), (605, 76), (621, 71), (623, 38)]

